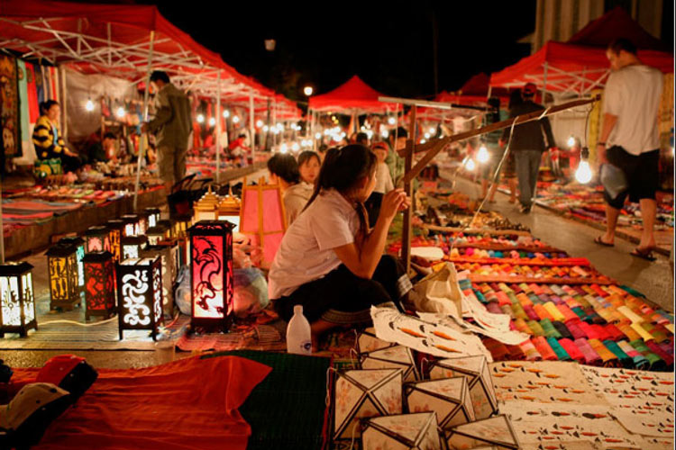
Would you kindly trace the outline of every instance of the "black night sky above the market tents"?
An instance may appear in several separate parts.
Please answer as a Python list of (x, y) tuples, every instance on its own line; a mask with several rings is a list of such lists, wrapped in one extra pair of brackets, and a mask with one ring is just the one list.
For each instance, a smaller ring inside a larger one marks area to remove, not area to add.
[[(296, 99), (357, 74), (384, 94), (434, 96), (433, 23), (439, 90), (497, 71), (529, 54), (535, 1), (157, 3), (161, 14), (244, 75)], [(277, 40), (274, 52), (263, 40)]]

